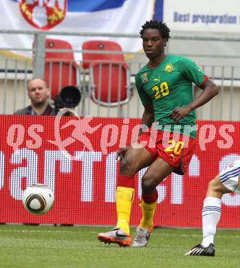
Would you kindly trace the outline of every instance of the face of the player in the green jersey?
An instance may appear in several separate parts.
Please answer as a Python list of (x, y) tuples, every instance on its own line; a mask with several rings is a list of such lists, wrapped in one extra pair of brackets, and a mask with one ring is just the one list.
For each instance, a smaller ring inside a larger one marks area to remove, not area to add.
[(166, 39), (157, 29), (146, 29), (142, 34), (142, 47), (148, 58), (157, 58), (164, 53)]

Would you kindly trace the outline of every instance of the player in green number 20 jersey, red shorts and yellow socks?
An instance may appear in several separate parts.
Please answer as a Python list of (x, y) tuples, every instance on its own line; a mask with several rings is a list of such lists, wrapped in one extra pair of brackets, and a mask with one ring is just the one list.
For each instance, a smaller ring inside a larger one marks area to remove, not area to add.
[[(147, 245), (153, 230), (158, 196), (156, 187), (171, 172), (183, 175), (186, 171), (195, 148), (194, 110), (218, 93), (215, 83), (192, 60), (164, 53), (170, 38), (169, 32), (161, 21), (146, 21), (140, 30), (149, 63), (135, 76), (135, 85), (144, 106), (141, 124), (148, 126), (149, 131), (140, 131), (137, 144), (118, 150), (118, 222), (111, 231), (98, 234), (98, 239), (105, 243), (131, 245), (129, 218), (135, 191), (133, 177), (136, 172), (149, 166), (142, 177), (142, 219), (132, 246)], [(195, 100), (192, 83), (203, 89)], [(156, 122), (157, 135), (152, 135), (153, 122)]]

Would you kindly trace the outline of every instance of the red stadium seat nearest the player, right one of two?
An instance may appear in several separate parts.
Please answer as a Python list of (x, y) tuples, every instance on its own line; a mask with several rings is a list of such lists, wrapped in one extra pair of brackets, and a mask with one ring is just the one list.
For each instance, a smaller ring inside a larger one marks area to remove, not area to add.
[[(89, 50), (95, 50), (95, 53)], [(89, 68), (91, 99), (110, 107), (130, 99), (129, 66), (123, 54), (106, 53), (114, 51), (122, 52), (122, 48), (112, 41), (83, 43), (83, 68)]]

